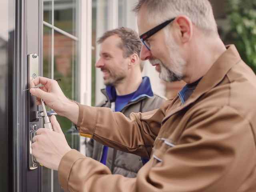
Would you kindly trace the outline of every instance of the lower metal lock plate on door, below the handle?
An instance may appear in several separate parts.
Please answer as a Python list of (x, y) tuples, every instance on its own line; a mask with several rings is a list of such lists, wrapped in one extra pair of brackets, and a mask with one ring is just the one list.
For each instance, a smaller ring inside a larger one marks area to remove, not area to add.
[(39, 128), (39, 122), (30, 122), (29, 124), (29, 169), (30, 170), (34, 170), (36, 168), (38, 168), (38, 162), (36, 162), (36, 158), (33, 156), (32, 154), (32, 148), (31, 145), (33, 143), (33, 138), (34, 136), (36, 136), (36, 131)]

